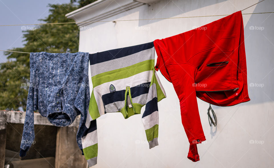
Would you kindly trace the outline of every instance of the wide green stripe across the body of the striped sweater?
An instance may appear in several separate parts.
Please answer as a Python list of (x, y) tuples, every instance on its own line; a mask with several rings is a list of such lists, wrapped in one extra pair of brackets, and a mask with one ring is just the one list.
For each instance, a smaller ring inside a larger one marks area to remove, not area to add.
[(106, 82), (115, 81), (118, 79), (124, 79), (131, 77), (144, 71), (150, 71), (154, 69), (154, 60), (146, 60), (143, 62), (130, 65), (128, 67), (115, 69), (112, 71), (100, 73), (91, 77), (93, 88)]

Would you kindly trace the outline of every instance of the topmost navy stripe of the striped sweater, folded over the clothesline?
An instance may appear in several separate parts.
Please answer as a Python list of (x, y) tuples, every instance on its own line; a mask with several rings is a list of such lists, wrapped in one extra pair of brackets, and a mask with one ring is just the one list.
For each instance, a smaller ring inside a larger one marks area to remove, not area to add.
[(90, 65), (114, 60), (154, 47), (153, 42), (89, 54)]

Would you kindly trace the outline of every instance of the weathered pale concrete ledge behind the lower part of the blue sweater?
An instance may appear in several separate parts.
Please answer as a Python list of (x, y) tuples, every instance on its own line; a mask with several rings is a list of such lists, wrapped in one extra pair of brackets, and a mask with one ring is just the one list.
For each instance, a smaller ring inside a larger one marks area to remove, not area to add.
[[(25, 116), (26, 116), (26, 113), (21, 112), (21, 111), (0, 110), (0, 130), (5, 129), (5, 124), (1, 124), (1, 122), (24, 124)], [(69, 126), (70, 127), (78, 127), (79, 122), (80, 122), (80, 116), (77, 116), (75, 118), (74, 122)], [(50, 125), (50, 126), (52, 126), (52, 124), (47, 120), (47, 118), (41, 116), (41, 114), (39, 112), (34, 113), (34, 124), (35, 125)]]

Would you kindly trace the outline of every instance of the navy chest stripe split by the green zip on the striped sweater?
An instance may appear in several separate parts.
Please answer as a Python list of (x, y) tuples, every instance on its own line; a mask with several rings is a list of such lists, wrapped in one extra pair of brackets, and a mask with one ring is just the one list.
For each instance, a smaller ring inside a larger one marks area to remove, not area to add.
[[(142, 83), (140, 85), (130, 88), (131, 98), (148, 93), (149, 86), (150, 86), (150, 82)], [(108, 104), (114, 103), (116, 101), (125, 101), (125, 92), (126, 92), (126, 90), (107, 93), (105, 95), (102, 95), (102, 101), (103, 101), (104, 105), (108, 105)]]

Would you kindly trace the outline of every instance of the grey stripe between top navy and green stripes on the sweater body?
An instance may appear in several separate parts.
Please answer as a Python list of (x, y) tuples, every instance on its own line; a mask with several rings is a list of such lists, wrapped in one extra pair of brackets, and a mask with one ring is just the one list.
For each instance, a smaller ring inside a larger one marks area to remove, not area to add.
[(91, 66), (91, 77), (98, 75), (100, 73), (128, 67), (130, 65), (134, 65), (136, 63), (146, 60), (154, 60), (154, 47), (122, 58), (96, 63)]

